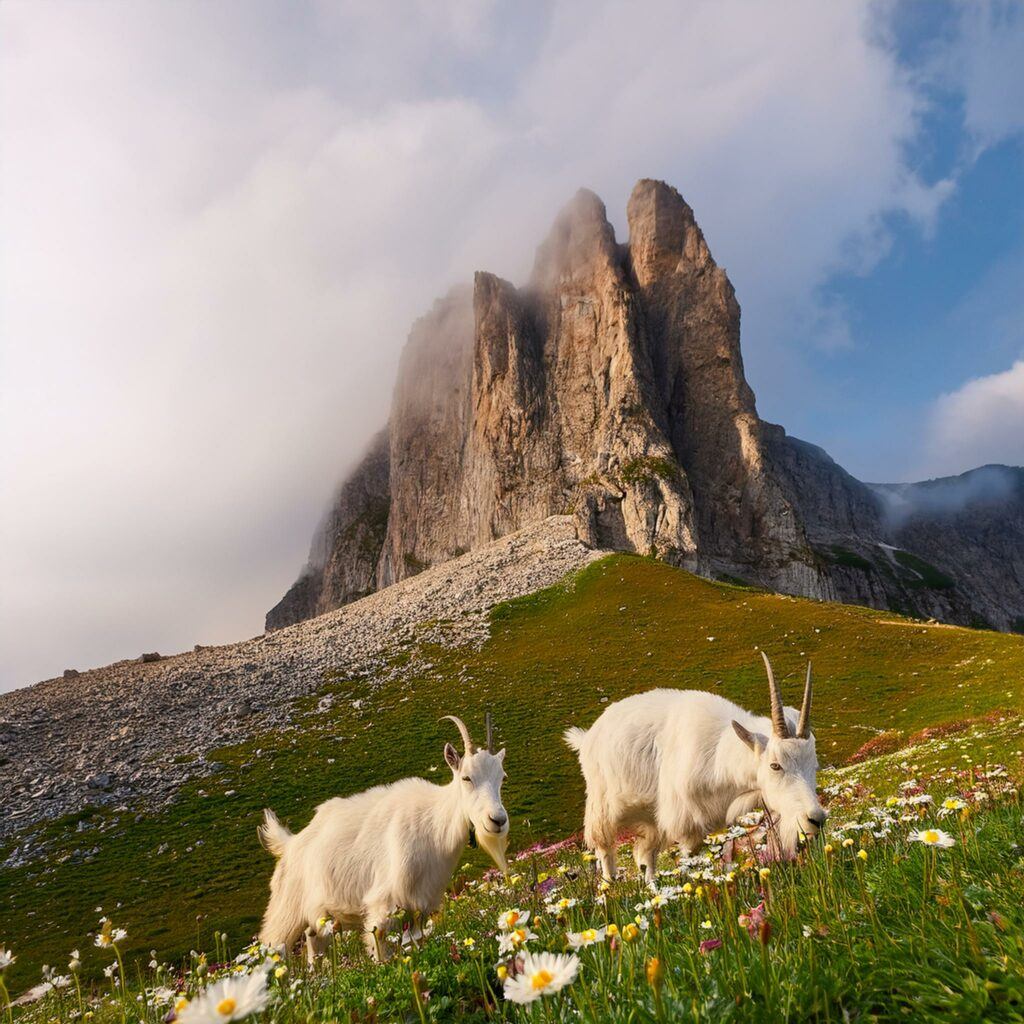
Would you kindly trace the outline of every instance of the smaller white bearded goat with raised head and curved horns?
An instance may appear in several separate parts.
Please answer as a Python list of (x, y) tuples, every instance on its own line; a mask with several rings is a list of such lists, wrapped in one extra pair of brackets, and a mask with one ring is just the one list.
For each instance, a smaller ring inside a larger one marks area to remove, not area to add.
[(436, 785), (404, 778), (316, 808), (312, 821), (292, 835), (267, 810), (260, 842), (279, 858), (260, 940), (291, 948), (305, 932), (310, 961), (321, 951), (317, 922), (359, 928), (375, 959), (396, 910), (416, 928), (440, 906), (444, 888), (470, 830), (502, 870), (508, 869), (508, 814), (502, 806), (505, 751), (476, 750), (461, 719), (455, 722), (465, 753), (444, 744), (452, 781)]

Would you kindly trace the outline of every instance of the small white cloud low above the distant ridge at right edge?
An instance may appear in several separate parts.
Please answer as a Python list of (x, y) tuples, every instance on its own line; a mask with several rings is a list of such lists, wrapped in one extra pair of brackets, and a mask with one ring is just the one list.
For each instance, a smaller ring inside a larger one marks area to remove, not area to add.
[(941, 395), (932, 411), (925, 475), (989, 463), (1024, 466), (1024, 358)]

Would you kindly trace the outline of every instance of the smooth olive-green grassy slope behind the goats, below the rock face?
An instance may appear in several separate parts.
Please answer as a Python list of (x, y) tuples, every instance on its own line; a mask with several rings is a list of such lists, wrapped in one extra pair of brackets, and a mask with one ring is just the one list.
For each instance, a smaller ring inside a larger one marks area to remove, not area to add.
[[(221, 752), (218, 773), (160, 814), (96, 810), (47, 826), (45, 866), (0, 871), (0, 942), (19, 954), (8, 982), (34, 982), (41, 963), (62, 964), (83, 946), (97, 906), (127, 927), (129, 959), (151, 948), (168, 957), (212, 948), (214, 929), (237, 946), (256, 930), (271, 869), (255, 840), (260, 809), (272, 806), (301, 827), (329, 796), (404, 774), (445, 779), (441, 748), (454, 730), (437, 722), (443, 714), (479, 728), (494, 712), (508, 748), (513, 848), (572, 833), (582, 785), (559, 738), (564, 726), (589, 725), (604, 702), (652, 686), (713, 689), (764, 710), (758, 647), (771, 654), (791, 702), (813, 659), (823, 764), (846, 762), (868, 740), (888, 749), (927, 726), (1017, 708), (1024, 690), (1021, 637), (768, 595), (612, 556), (497, 608), (480, 650), (421, 650), (426, 663), (410, 663), (421, 668), (375, 691), (365, 680), (325, 680), (297, 728)], [(880, 742), (882, 731), (890, 735)], [(1010, 734), (997, 746), (993, 755), (1019, 762)], [(83, 952), (86, 972), (106, 963)]]

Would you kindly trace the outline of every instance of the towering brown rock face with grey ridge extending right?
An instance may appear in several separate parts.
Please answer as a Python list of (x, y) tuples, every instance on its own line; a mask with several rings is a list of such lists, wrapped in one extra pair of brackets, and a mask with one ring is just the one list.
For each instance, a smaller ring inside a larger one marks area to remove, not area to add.
[(966, 504), (921, 498), (941, 482), (872, 487), (763, 422), (739, 305), (693, 211), (643, 180), (628, 217), (620, 245), (580, 191), (525, 287), (479, 272), (417, 322), (388, 428), (267, 629), (561, 513), (594, 548), (706, 575), (1024, 624), (1019, 477), (978, 517), (970, 487)]

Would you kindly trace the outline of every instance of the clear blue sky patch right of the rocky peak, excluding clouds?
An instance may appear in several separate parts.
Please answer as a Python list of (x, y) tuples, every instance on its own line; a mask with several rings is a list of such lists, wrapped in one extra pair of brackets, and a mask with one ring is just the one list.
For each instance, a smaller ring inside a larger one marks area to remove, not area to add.
[[(1019, 6), (991, 11), (993, 22), (1018, 34), (1021, 14)], [(926, 181), (954, 179), (955, 187), (933, 224), (887, 217), (888, 249), (867, 272), (840, 272), (822, 284), (849, 330), (848, 347), (814, 359), (840, 402), (787, 421), (863, 478), (1024, 459), (1020, 437), (989, 449), (982, 438), (965, 453), (967, 461), (945, 461), (921, 439), (937, 395), (1004, 373), (1024, 355), (1024, 134), (1018, 116), (995, 138), (979, 140), (963, 82), (930, 68), (957, 22), (954, 7), (925, 3), (897, 7), (893, 26), (901, 65), (933, 78), (908, 160)], [(1024, 97), (1019, 71), (1004, 88), (1009, 102)]]

